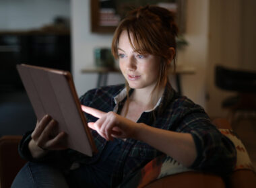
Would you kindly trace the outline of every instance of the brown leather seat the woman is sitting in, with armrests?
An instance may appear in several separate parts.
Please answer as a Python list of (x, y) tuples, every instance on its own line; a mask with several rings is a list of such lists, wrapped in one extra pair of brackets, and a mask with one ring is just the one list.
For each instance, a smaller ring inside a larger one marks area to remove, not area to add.
[[(218, 128), (230, 129), (230, 124), (226, 119), (214, 120), (214, 124)], [(0, 138), (0, 181), (1, 188), (9, 188), (15, 175), (21, 169), (26, 161), (22, 160), (18, 155), (18, 142), (21, 136), (3, 136)], [(161, 179), (156, 179), (145, 188), (200, 188), (200, 187), (256, 187), (256, 175), (252, 170), (240, 169), (234, 171), (228, 177), (220, 177), (218, 175), (183, 172), (174, 175), (168, 175)]]

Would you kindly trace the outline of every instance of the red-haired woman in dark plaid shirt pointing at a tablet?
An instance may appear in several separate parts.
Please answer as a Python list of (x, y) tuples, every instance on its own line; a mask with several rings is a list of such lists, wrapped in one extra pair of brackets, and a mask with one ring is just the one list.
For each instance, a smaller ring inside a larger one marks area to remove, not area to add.
[[(30, 160), (12, 187), (117, 187), (160, 154), (185, 167), (229, 173), (236, 152), (202, 107), (179, 96), (168, 82), (177, 26), (170, 11), (146, 6), (119, 24), (112, 51), (126, 85), (102, 87), (80, 98), (98, 153), (65, 146), (65, 132), (46, 115), (24, 136), (20, 154)], [(26, 187), (26, 186), (25, 186)], [(29, 186), (27, 186), (29, 187)]]

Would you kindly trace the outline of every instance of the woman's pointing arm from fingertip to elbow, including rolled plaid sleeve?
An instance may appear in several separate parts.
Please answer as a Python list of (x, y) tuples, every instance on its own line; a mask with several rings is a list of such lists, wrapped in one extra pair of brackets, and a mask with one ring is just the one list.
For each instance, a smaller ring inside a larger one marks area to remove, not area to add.
[(234, 169), (234, 144), (200, 111), (186, 115), (179, 122), (177, 132), (172, 132), (137, 124), (113, 111), (104, 113), (83, 105), (82, 109), (99, 118), (88, 126), (106, 140), (113, 137), (142, 140), (193, 169), (219, 174), (230, 173)]

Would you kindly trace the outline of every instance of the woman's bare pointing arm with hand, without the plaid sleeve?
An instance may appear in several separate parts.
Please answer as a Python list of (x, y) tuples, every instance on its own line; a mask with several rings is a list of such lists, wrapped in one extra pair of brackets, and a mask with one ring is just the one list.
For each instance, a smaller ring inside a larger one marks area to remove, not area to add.
[(137, 124), (112, 111), (104, 113), (84, 105), (82, 105), (82, 109), (86, 113), (99, 118), (98, 121), (89, 123), (88, 126), (96, 130), (106, 140), (113, 140), (113, 137), (141, 140), (168, 154), (185, 166), (193, 164), (197, 156), (191, 134), (152, 128), (146, 124)]

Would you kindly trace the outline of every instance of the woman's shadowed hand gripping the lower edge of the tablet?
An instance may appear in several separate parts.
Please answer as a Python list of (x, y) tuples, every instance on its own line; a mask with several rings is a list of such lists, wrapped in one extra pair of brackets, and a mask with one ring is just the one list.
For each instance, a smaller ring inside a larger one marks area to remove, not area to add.
[(43, 150), (64, 150), (67, 148), (65, 132), (57, 133), (57, 122), (50, 115), (45, 115), (37, 122), (32, 140)]

